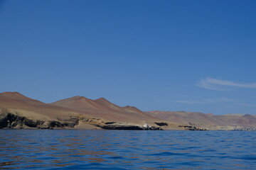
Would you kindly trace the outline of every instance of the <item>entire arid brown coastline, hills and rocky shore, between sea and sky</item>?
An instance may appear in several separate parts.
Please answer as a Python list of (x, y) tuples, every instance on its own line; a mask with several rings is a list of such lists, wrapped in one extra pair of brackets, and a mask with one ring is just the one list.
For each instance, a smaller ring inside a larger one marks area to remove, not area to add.
[(0, 94), (0, 128), (109, 130), (255, 130), (256, 115), (213, 115), (184, 111), (143, 112), (105, 98), (83, 96), (43, 103), (18, 92)]

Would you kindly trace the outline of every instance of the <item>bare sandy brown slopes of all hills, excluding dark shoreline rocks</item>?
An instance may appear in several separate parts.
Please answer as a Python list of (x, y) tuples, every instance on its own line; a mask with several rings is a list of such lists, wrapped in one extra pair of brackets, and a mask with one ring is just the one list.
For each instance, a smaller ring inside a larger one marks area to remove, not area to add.
[[(178, 125), (191, 125), (191, 123), (208, 125), (215, 127), (215, 129), (218, 129), (217, 126), (227, 125), (256, 127), (255, 115), (213, 115), (184, 111), (149, 111), (144, 113), (133, 106), (117, 106), (105, 98), (92, 100), (83, 96), (75, 96), (54, 103), (43, 103), (23, 96), (18, 92), (4, 92), (0, 94), (1, 121), (6, 120), (3, 117), (3, 113), (12, 113), (36, 121), (67, 120), (68, 123), (73, 121), (77, 128), (87, 129), (93, 129), (95, 125), (102, 125), (102, 123), (109, 126), (144, 126), (146, 124), (157, 127), (160, 125), (163, 129), (183, 129), (178, 128)], [(27, 120), (27, 122), (29, 121)], [(52, 123), (56, 124), (56, 122)], [(161, 123), (167, 123), (168, 126), (161, 125)]]

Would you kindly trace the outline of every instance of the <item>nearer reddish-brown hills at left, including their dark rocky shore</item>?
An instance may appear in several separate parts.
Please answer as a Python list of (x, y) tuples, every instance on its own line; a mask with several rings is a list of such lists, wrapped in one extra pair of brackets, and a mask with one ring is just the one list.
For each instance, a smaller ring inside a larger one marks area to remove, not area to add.
[[(159, 129), (159, 118), (131, 106), (120, 107), (105, 98), (83, 96), (43, 103), (19, 94), (0, 94), (0, 128)], [(146, 125), (146, 126), (144, 126)]]

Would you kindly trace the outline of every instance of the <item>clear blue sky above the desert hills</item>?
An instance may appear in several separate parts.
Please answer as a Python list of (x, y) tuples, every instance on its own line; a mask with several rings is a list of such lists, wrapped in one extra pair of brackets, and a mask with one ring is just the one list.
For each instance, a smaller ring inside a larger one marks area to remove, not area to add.
[(0, 0), (0, 90), (256, 114), (256, 1)]

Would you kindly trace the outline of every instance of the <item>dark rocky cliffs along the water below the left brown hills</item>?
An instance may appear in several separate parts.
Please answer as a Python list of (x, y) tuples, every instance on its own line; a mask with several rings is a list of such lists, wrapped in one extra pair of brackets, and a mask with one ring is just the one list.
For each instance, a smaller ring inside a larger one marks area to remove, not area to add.
[(13, 113), (0, 114), (0, 129), (60, 129), (75, 128), (79, 123), (86, 123), (95, 128), (104, 130), (162, 130), (158, 125), (151, 126), (148, 124), (134, 125), (132, 123), (104, 122), (101, 118), (90, 118), (82, 116), (70, 116), (70, 119), (61, 120), (32, 120), (24, 116)]

